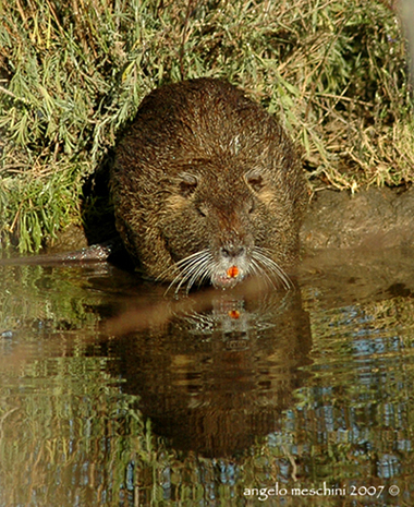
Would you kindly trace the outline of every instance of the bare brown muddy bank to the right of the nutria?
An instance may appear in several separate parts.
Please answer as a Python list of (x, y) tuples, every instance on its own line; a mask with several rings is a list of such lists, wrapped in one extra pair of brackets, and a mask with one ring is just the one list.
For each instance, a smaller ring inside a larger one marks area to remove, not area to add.
[(412, 248), (413, 218), (414, 189), (324, 190), (309, 204), (301, 243), (305, 251)]

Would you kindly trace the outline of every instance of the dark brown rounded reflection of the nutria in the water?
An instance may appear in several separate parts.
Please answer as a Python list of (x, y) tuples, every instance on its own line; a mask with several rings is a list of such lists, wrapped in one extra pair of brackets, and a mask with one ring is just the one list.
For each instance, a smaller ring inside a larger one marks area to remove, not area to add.
[(158, 436), (220, 458), (279, 427), (308, 376), (312, 338), (299, 290), (215, 294), (209, 310), (111, 339), (108, 367)]

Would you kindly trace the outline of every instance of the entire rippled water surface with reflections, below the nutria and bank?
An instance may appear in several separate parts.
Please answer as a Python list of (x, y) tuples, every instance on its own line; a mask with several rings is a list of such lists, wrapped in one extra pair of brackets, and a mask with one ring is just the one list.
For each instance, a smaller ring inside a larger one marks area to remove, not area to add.
[(0, 267), (0, 506), (414, 505), (413, 261), (184, 300)]

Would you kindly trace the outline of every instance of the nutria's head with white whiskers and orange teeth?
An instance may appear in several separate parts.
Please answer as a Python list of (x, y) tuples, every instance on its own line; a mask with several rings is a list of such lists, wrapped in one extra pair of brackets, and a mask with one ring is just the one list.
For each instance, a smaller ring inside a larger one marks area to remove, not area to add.
[(206, 160), (180, 172), (174, 189), (167, 200), (162, 232), (175, 263), (178, 288), (203, 281), (231, 288), (252, 274), (290, 286), (282, 269), (287, 263), (275, 259), (277, 217), (271, 202), (277, 195), (266, 171), (222, 170)]

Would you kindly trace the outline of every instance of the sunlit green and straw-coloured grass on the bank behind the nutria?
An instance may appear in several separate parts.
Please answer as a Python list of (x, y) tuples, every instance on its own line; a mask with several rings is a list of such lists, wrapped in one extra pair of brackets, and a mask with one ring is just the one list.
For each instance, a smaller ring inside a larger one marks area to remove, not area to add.
[(180, 79), (245, 87), (282, 117), (312, 176), (329, 184), (412, 181), (404, 40), (387, 1), (0, 9), (0, 234), (21, 250), (80, 220), (83, 179), (143, 96)]

